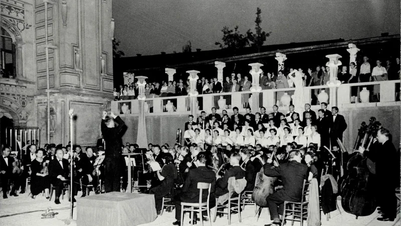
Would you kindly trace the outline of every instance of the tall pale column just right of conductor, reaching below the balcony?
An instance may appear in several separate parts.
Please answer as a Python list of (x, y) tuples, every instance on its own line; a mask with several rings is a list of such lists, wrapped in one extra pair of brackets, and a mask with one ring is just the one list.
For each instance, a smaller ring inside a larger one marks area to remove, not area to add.
[[(139, 101), (139, 117), (138, 117), (138, 134), (136, 137), (136, 143), (140, 148), (147, 146), (147, 135), (146, 135), (146, 120), (145, 120), (145, 85), (147, 78), (146, 76), (137, 76), (138, 82), (138, 101)], [(132, 106), (131, 106), (132, 107)], [(132, 111), (132, 109), (131, 109)]]

